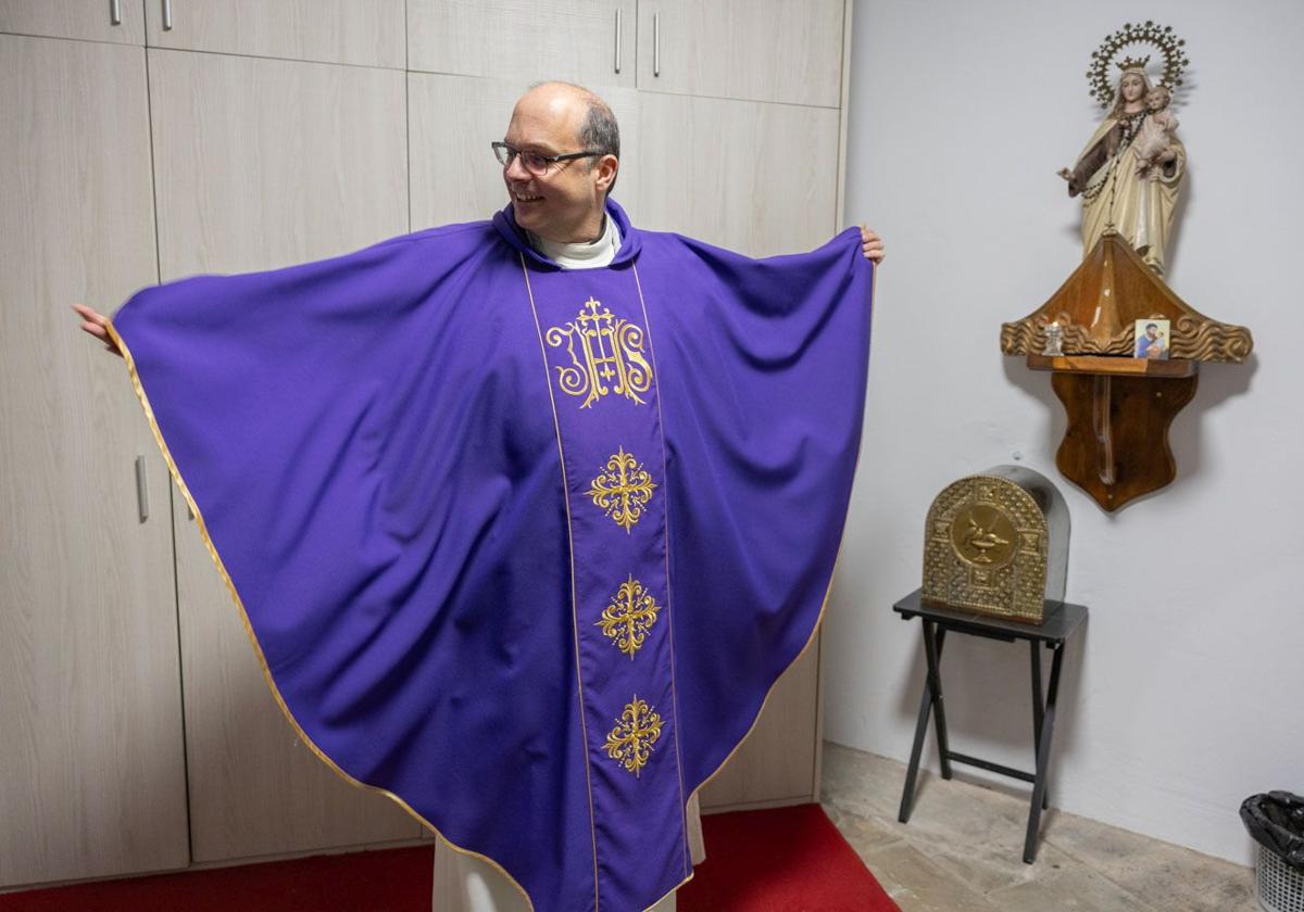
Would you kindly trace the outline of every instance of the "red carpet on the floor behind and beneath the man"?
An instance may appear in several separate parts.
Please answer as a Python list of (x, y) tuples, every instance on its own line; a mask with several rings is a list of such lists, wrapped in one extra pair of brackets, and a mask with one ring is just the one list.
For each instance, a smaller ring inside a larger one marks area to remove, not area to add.
[[(891, 912), (818, 804), (702, 818), (678, 912)], [(0, 912), (430, 912), (432, 848), (317, 855), (0, 895)]]

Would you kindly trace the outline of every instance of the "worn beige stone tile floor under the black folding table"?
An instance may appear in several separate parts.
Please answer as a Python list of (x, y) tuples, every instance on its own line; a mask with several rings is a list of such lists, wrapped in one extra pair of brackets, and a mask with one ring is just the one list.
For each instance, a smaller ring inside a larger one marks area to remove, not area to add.
[(823, 805), (904, 912), (1258, 912), (1253, 872), (1051, 808), (1025, 865), (1028, 797), (824, 743)]

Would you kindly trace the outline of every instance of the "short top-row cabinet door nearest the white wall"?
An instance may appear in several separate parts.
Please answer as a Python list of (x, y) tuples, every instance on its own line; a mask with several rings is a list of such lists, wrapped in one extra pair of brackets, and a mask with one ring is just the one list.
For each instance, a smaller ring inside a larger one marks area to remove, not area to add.
[(639, 89), (836, 108), (842, 0), (639, 0)]

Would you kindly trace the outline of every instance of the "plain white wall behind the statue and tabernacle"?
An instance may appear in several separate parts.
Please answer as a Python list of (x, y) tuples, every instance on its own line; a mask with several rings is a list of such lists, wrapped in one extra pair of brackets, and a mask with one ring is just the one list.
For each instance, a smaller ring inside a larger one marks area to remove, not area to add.
[[(1091, 51), (1138, 17), (1172, 25), (1192, 61), (1170, 284), (1256, 349), (1201, 370), (1176, 481), (1110, 516), (1055, 469), (1050, 377), (998, 334), (1080, 261), (1055, 171), (1101, 117)], [(854, 27), (846, 211), (888, 259), (825, 735), (909, 757), (919, 624), (891, 606), (919, 585), (925, 513), (948, 482), (1020, 461), (1068, 500), (1069, 601), (1091, 612), (1065, 662), (1052, 804), (1248, 864), (1240, 801), (1304, 792), (1304, 5), (862, 0)], [(1026, 646), (955, 637), (943, 672), (953, 749), (1029, 769)]]

